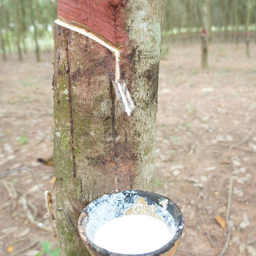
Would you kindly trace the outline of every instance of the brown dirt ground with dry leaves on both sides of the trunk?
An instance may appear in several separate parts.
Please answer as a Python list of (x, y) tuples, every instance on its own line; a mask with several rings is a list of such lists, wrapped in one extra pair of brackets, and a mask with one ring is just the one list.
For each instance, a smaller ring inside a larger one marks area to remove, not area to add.
[[(219, 255), (228, 230), (224, 255), (256, 255), (256, 45), (250, 50), (248, 60), (243, 44), (211, 44), (202, 72), (199, 44), (172, 45), (160, 63), (156, 191), (185, 218), (177, 256)], [(27, 168), (51, 190), (54, 168), (36, 162), (53, 148), (53, 53), (42, 59), (0, 61), (0, 172)], [(32, 175), (10, 173), (0, 184), (0, 255), (35, 256), (45, 240), (57, 247)], [(227, 213), (222, 228), (215, 217)]]

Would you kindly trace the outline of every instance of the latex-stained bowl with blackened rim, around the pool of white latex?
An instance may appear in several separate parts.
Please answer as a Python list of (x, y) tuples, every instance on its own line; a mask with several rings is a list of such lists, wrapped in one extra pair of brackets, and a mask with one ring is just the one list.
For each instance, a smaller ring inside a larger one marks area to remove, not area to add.
[(173, 238), (163, 247), (143, 256), (173, 256), (177, 250), (184, 227), (180, 208), (169, 198), (152, 192), (125, 190), (114, 194), (103, 195), (91, 202), (81, 212), (78, 221), (79, 235), (91, 256), (124, 256), (108, 251), (93, 243), (99, 228), (108, 221), (123, 215), (150, 215), (161, 219), (173, 234)]

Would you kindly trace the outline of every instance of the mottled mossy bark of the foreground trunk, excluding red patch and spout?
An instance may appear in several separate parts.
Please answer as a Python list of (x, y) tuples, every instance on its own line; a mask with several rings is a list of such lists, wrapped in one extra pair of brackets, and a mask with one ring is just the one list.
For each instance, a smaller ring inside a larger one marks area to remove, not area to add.
[[(105, 2), (109, 8), (114, 5), (116, 39), (122, 45), (121, 77), (135, 105), (131, 116), (122, 112), (116, 101), (111, 83), (115, 78), (112, 53), (84, 35), (54, 27), (56, 204), (67, 211), (75, 228), (81, 209), (104, 194), (155, 188), (164, 1)], [(61, 256), (88, 254), (61, 210), (57, 212), (57, 228)]]

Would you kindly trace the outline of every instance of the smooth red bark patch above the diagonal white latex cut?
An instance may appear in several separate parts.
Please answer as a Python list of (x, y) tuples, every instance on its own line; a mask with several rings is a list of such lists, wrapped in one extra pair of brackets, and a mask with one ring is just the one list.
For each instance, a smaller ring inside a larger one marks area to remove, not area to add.
[(84, 25), (113, 44), (124, 40), (121, 0), (58, 0), (58, 17)]

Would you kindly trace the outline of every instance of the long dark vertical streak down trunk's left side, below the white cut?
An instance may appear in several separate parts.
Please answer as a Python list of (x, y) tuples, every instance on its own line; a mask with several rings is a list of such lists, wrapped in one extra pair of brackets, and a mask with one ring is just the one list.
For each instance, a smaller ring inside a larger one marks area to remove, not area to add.
[(70, 134), (71, 134), (71, 148), (72, 148), (72, 157), (73, 157), (73, 177), (76, 177), (76, 156), (74, 148), (74, 122), (73, 122), (73, 108), (72, 108), (72, 95), (71, 95), (71, 75), (70, 75), (70, 61), (69, 61), (69, 29), (66, 29), (66, 57), (67, 57), (67, 69), (68, 74), (68, 97), (69, 97), (69, 108), (70, 108)]

